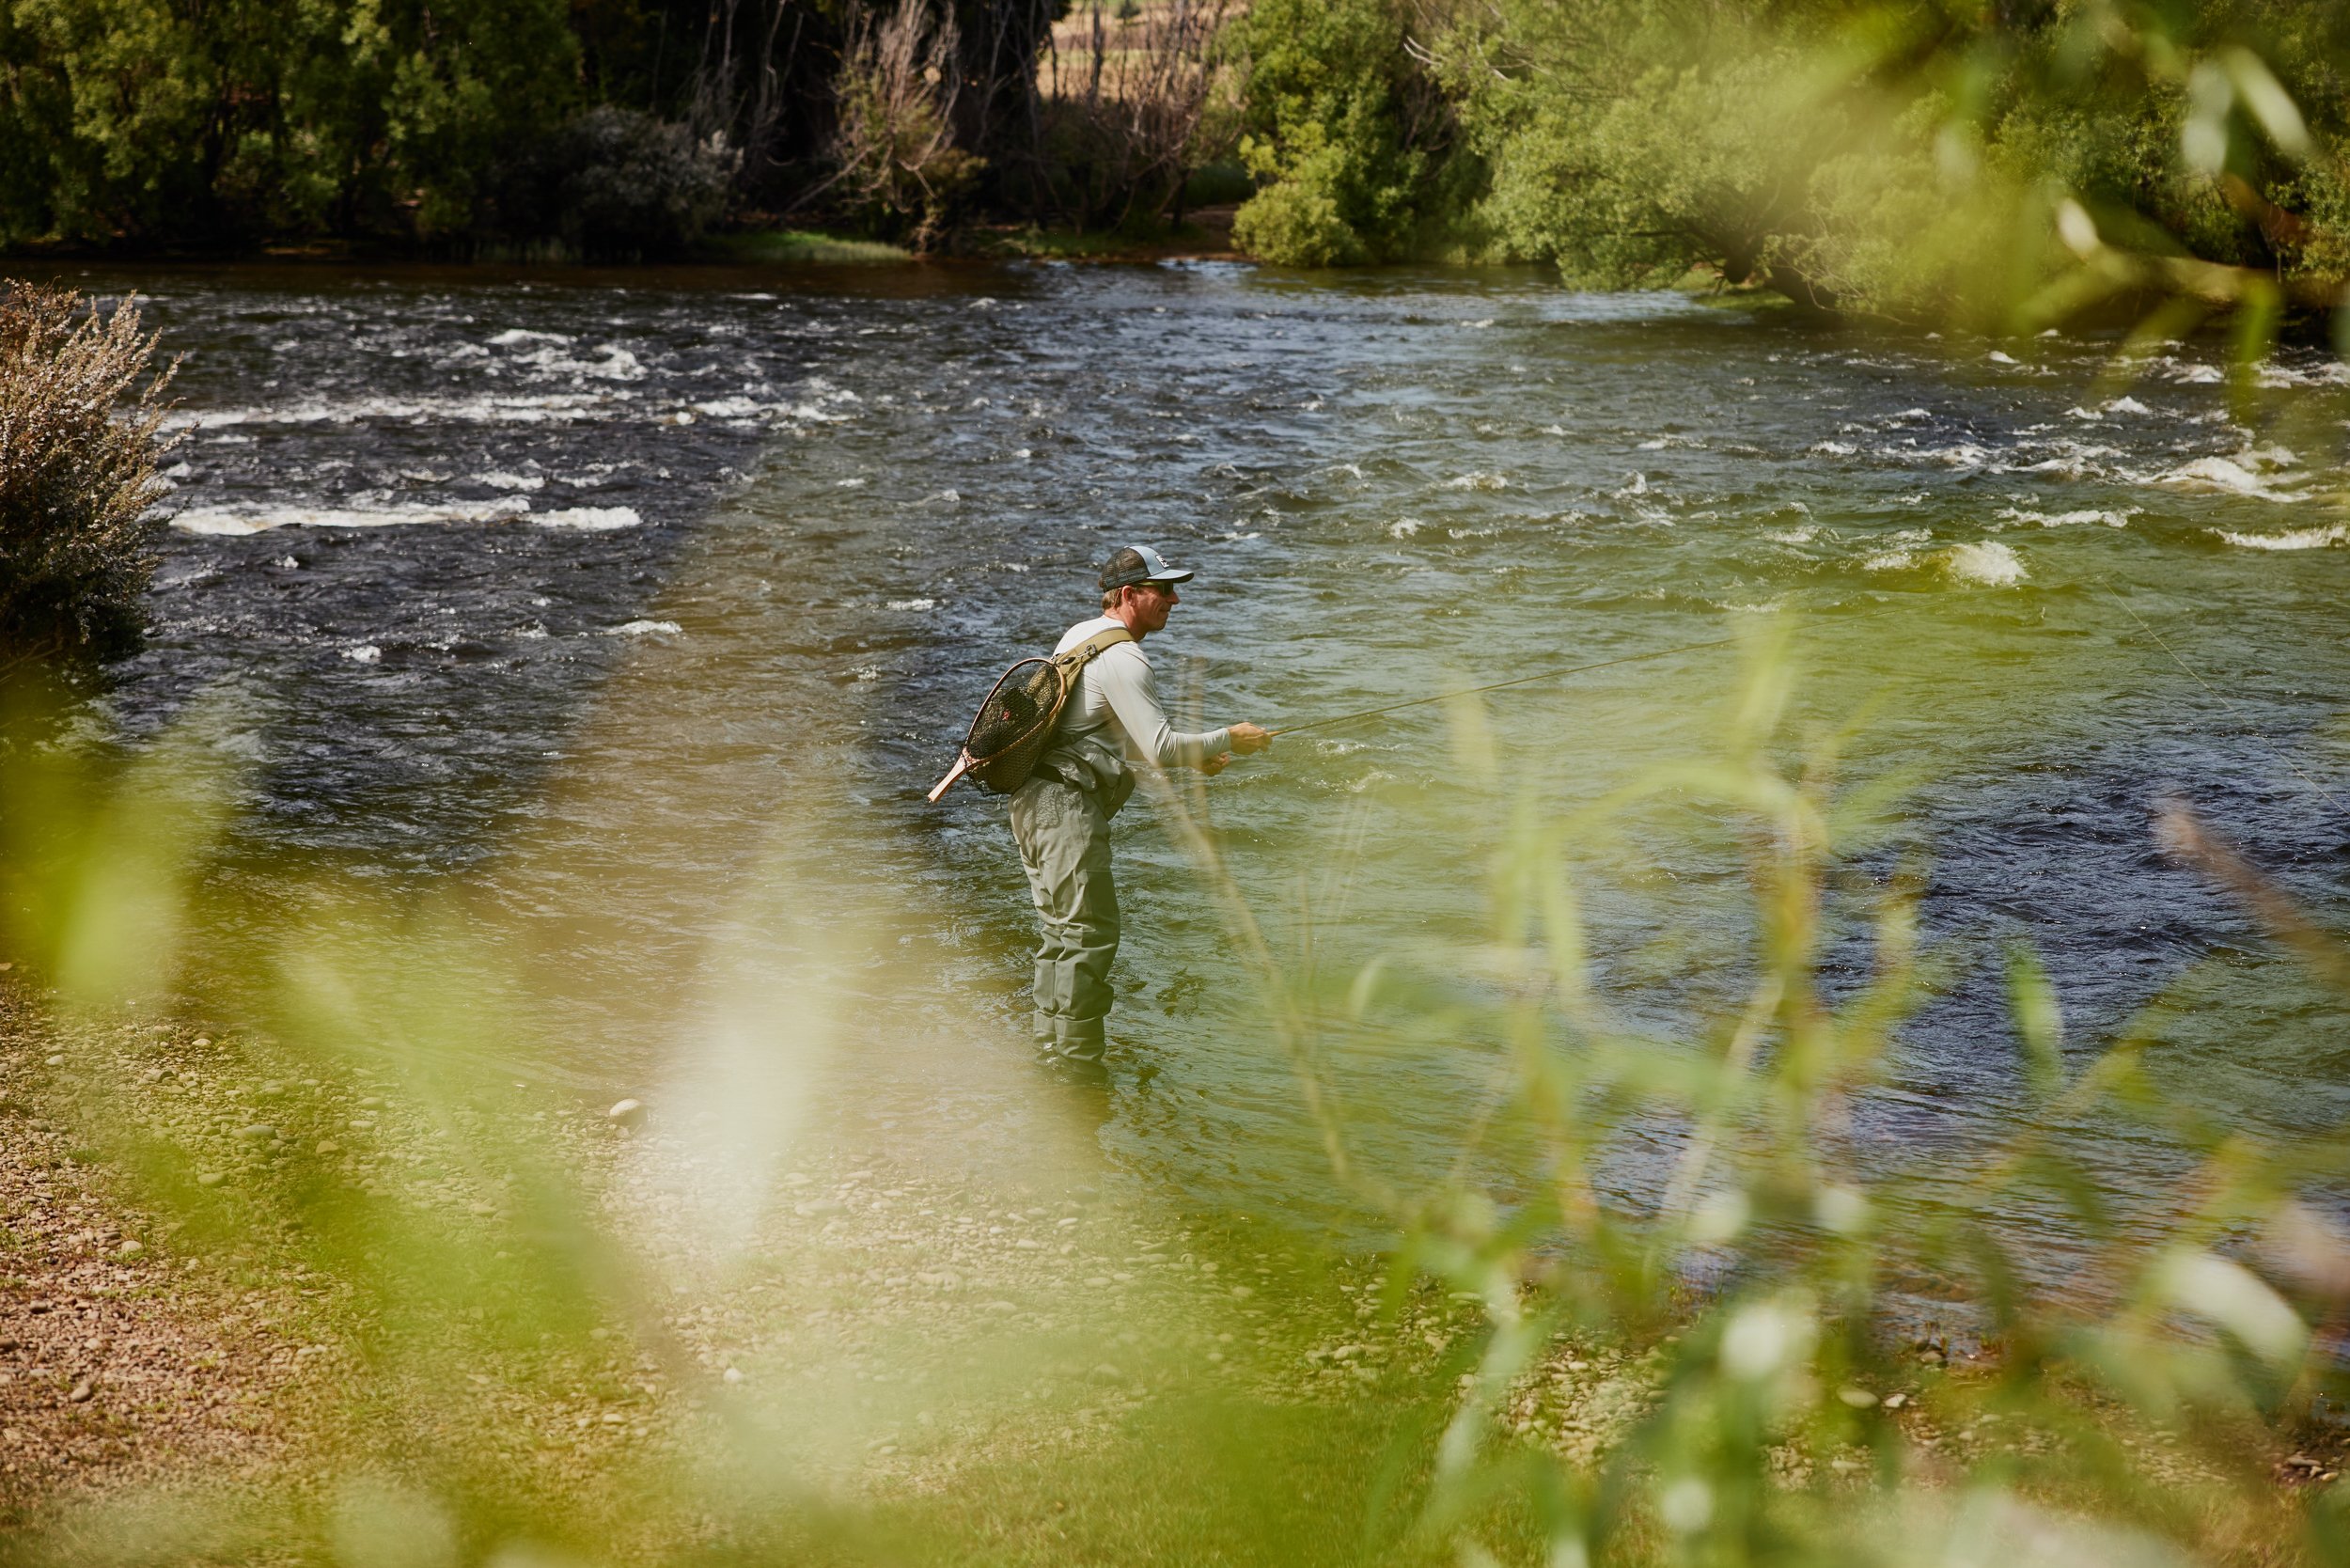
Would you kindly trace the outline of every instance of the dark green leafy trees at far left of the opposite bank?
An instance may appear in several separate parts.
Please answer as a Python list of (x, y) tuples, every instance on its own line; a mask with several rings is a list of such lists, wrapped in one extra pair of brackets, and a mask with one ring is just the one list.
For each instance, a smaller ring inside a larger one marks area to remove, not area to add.
[(0, 0), (0, 240), (468, 230), (576, 63), (564, 0)]

